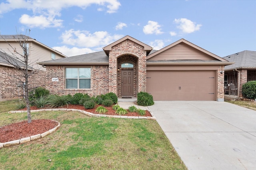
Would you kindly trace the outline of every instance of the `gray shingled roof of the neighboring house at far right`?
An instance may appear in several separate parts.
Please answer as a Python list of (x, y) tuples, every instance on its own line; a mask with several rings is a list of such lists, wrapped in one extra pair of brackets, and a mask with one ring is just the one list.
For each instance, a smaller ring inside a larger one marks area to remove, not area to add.
[(233, 70), (234, 68), (256, 68), (256, 51), (241, 51), (232, 55), (223, 57), (234, 64), (225, 66), (224, 70)]

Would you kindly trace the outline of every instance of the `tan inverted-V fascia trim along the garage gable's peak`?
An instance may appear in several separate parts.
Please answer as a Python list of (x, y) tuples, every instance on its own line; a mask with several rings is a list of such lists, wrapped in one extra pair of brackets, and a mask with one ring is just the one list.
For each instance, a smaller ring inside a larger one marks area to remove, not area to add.
[(162, 48), (162, 49), (160, 49), (160, 50), (158, 50), (158, 51), (156, 51), (155, 53), (149, 55), (147, 57), (147, 59), (150, 59), (151, 57), (154, 57), (155, 55), (158, 55), (159, 53), (162, 53), (163, 51), (165, 51), (165, 50), (167, 50), (167, 49), (169, 49), (169, 48), (171, 48), (171, 47), (173, 47), (173, 46), (175, 46), (175, 45), (177, 45), (179, 43), (185, 43), (186, 45), (189, 45), (190, 47), (193, 47), (193, 48), (195, 48), (195, 49), (197, 49), (199, 51), (202, 51), (203, 53), (206, 53), (207, 55), (210, 55), (210, 56), (212, 56), (215, 59), (218, 59), (220, 61), (225, 61), (225, 62), (227, 61), (227, 60), (219, 57), (218, 55), (215, 55), (215, 54), (213, 54), (213, 53), (211, 53), (211, 52), (209, 52), (209, 51), (207, 51), (205, 49), (202, 49), (201, 47), (198, 47), (197, 45), (194, 45), (193, 43), (190, 43), (189, 41), (187, 41), (186, 39), (183, 39), (183, 38), (178, 40), (178, 41), (176, 41), (176, 42), (174, 42), (174, 43), (172, 43), (172, 44), (170, 44), (170, 45), (168, 45), (168, 46), (166, 46), (166, 47), (164, 47), (164, 48)]

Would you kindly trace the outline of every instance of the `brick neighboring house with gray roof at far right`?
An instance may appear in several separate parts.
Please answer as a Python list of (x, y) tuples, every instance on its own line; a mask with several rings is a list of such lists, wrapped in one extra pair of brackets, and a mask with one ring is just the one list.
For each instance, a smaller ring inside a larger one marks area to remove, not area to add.
[(234, 62), (224, 68), (224, 84), (234, 83), (238, 88), (238, 97), (242, 97), (243, 84), (256, 80), (256, 51), (241, 51), (223, 59)]

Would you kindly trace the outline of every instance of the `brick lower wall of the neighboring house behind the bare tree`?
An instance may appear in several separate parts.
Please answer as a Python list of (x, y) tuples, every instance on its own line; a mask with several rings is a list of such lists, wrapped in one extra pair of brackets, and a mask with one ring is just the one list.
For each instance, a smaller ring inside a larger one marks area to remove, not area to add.
[[(0, 65), (0, 100), (9, 100), (23, 95), (22, 82), (15, 78), (19, 75), (23, 75), (21, 70)], [(46, 72), (42, 70), (38, 70), (36, 74), (32, 74), (28, 79), (29, 88), (44, 86), (46, 84), (45, 77)], [(22, 78), (22, 81), (24, 81), (24, 78)]]

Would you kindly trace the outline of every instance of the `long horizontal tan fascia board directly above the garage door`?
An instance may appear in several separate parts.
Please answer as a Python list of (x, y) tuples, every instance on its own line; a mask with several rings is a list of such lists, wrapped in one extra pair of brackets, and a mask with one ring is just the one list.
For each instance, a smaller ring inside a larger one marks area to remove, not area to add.
[(146, 63), (147, 65), (230, 65), (234, 64), (231, 62), (152, 62), (152, 63)]

